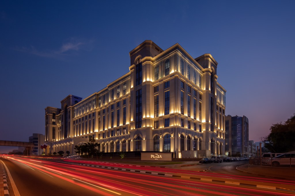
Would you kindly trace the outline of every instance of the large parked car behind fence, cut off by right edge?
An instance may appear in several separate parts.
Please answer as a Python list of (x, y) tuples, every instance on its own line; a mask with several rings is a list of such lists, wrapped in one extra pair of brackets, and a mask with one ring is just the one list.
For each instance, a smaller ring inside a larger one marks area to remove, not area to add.
[(295, 153), (285, 153), (266, 160), (267, 165), (295, 167)]

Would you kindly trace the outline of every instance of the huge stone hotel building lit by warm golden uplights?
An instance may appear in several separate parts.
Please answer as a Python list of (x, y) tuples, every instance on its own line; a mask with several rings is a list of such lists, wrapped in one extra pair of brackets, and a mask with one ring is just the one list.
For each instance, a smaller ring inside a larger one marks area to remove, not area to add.
[(86, 97), (45, 108), (47, 153), (74, 153), (94, 136), (101, 152), (173, 152), (176, 158), (225, 153), (225, 89), (211, 54), (193, 58), (179, 44), (146, 40), (127, 74)]

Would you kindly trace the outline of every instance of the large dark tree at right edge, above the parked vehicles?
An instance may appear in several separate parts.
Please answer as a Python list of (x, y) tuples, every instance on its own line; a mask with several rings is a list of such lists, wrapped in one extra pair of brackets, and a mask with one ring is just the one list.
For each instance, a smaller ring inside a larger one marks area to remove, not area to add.
[(270, 152), (290, 152), (295, 150), (295, 114), (286, 122), (273, 124), (268, 136), (264, 137), (264, 147)]

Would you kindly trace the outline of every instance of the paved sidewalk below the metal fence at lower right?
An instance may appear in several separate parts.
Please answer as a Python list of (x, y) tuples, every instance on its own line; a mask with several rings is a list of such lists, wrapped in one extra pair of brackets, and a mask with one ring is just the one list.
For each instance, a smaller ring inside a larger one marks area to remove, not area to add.
[(295, 168), (294, 167), (271, 167), (260, 165), (241, 165), (236, 167), (237, 170), (242, 172), (257, 174), (261, 176), (270, 176), (281, 179), (295, 180)]

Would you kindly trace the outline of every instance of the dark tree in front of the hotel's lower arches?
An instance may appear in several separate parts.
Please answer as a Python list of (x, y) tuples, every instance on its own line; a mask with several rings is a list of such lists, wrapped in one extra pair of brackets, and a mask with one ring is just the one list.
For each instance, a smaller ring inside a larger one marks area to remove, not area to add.
[(81, 154), (86, 154), (89, 155), (90, 157), (93, 157), (94, 155), (96, 155), (99, 150), (97, 150), (97, 148), (99, 149), (100, 144), (98, 144), (95, 140), (94, 137), (89, 136), (89, 142), (81, 144), (81, 145), (76, 145), (75, 146), (75, 152), (78, 153), (79, 155)]

